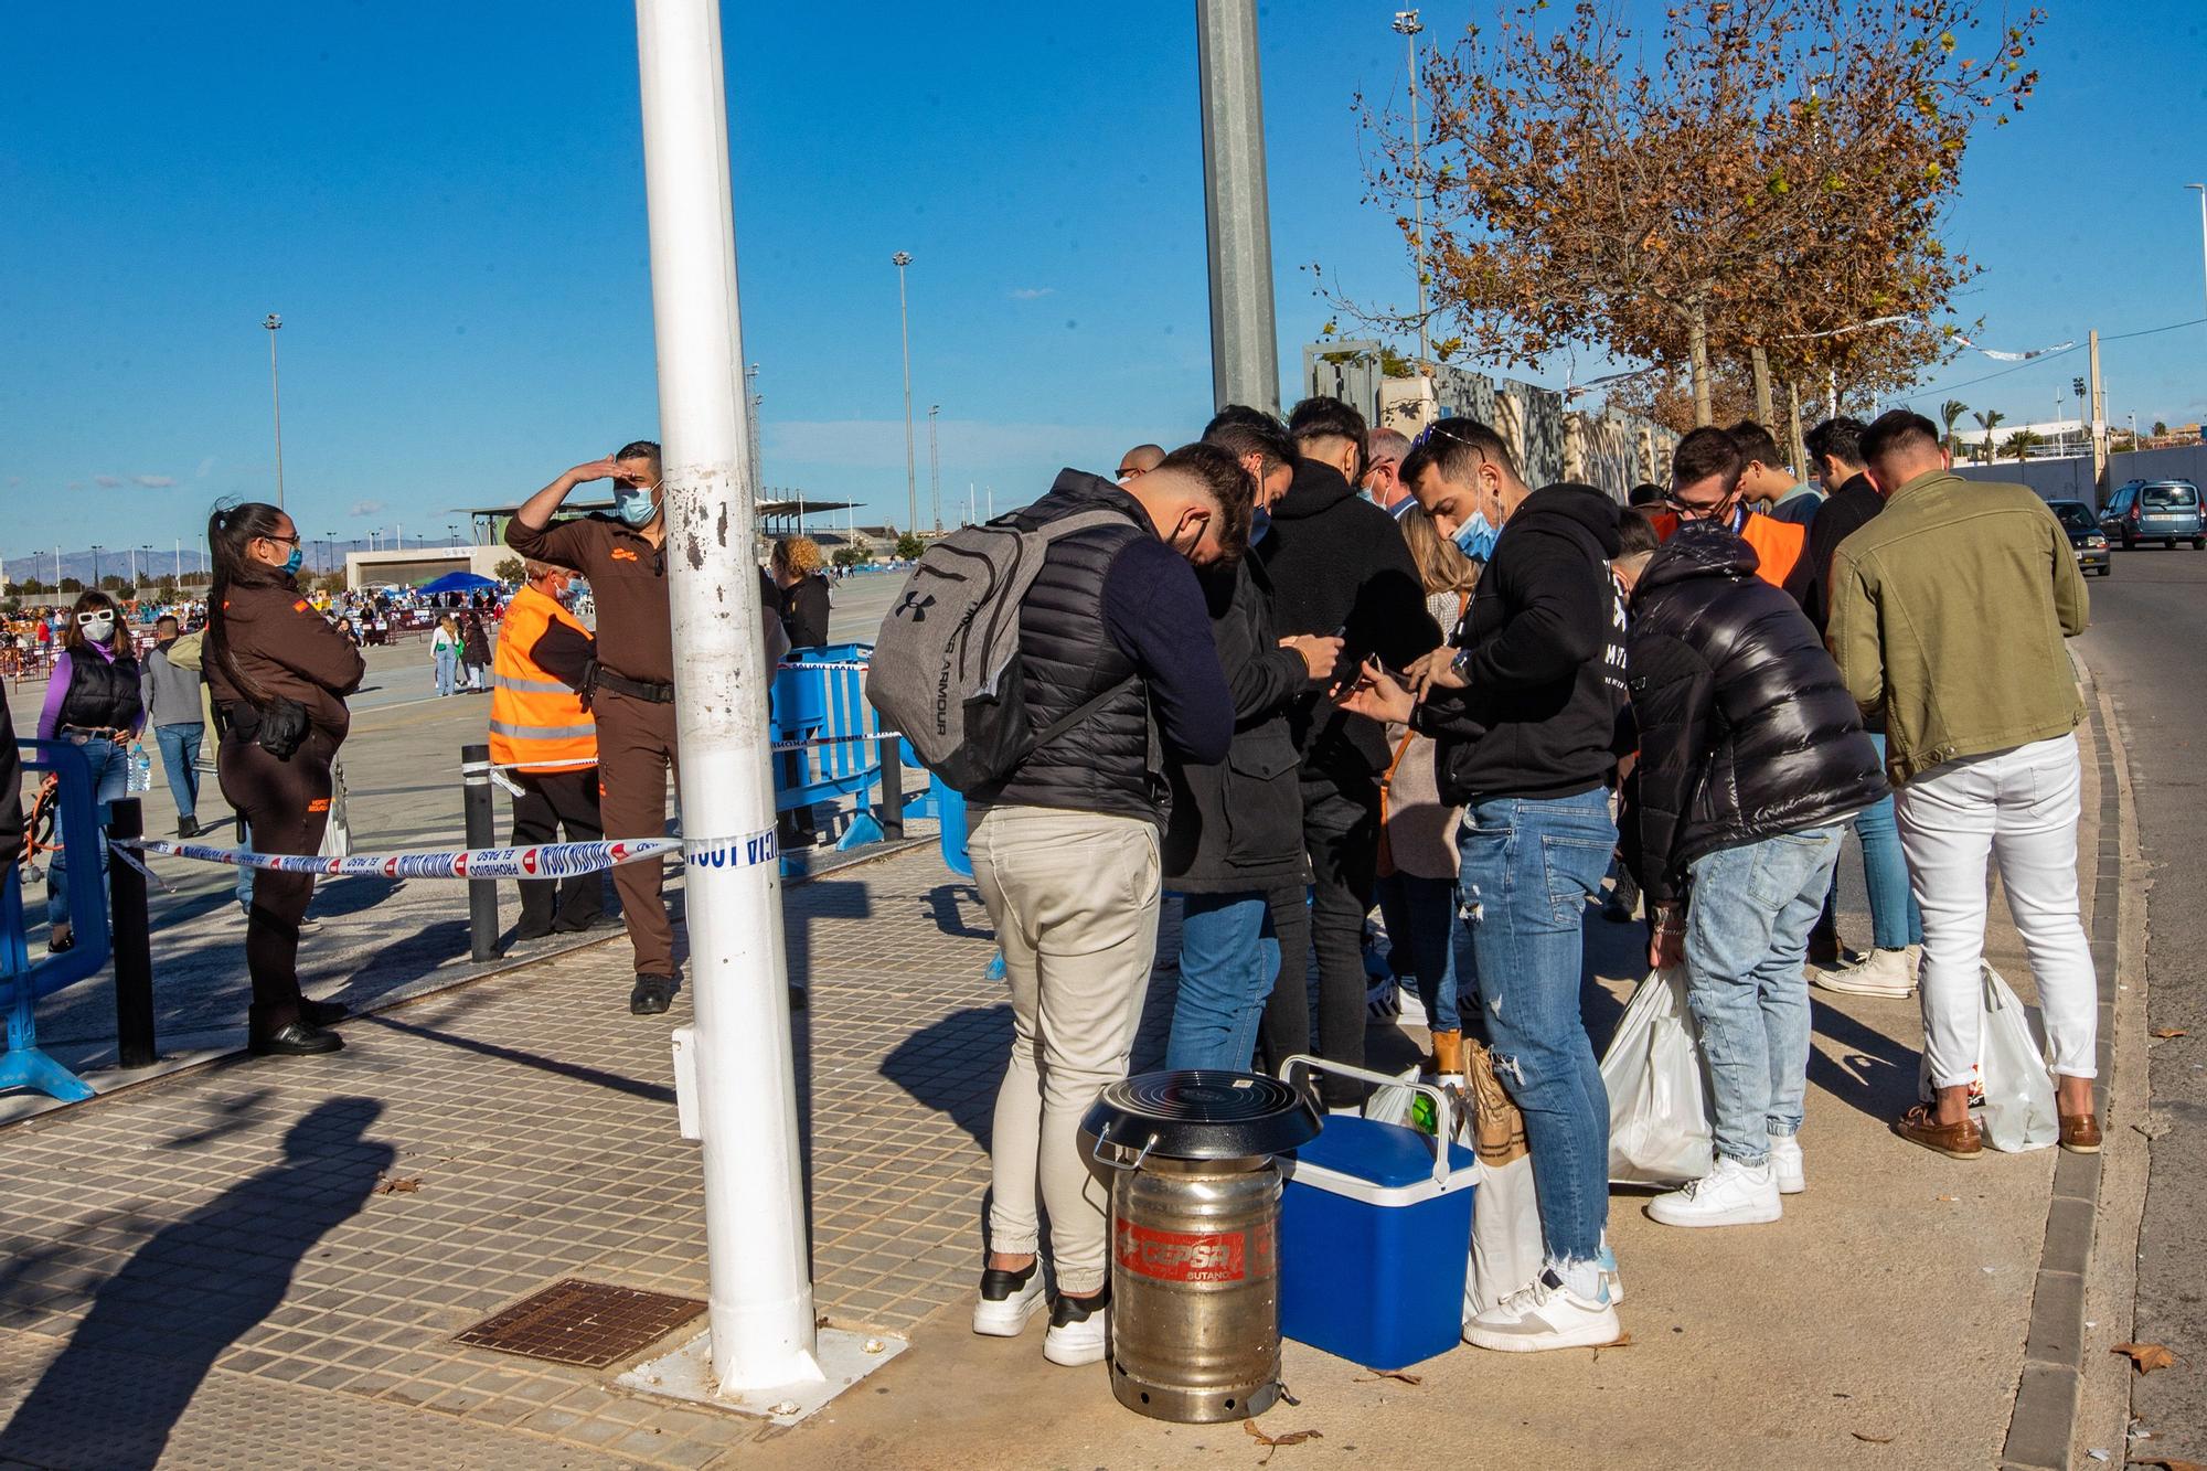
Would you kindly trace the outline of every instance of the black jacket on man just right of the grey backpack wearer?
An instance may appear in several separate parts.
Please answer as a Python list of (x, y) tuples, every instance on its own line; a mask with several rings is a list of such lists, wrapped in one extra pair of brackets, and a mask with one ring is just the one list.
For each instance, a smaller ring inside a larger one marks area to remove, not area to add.
[[(1271, 585), (1254, 557), (1198, 574), (1212, 610), (1218, 669), (1234, 691), (1234, 744), (1216, 764), (1165, 760), (1172, 822), (1165, 888), (1183, 895), (1254, 895), (1309, 877), (1302, 853), (1302, 775), (1289, 705), (1311, 687), (1302, 654), (1282, 649)], [(1298, 899), (1300, 901), (1300, 899)]]

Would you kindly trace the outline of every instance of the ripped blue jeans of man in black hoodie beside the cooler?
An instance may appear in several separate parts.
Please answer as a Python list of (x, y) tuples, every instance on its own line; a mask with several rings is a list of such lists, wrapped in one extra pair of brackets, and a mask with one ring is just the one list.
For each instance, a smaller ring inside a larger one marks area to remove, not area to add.
[(1578, 1012), (1585, 908), (1618, 824), (1609, 793), (1496, 797), (1463, 808), (1463, 910), (1494, 1073), (1525, 1113), (1547, 1266), (1585, 1279), (1609, 1224), (1609, 1091)]

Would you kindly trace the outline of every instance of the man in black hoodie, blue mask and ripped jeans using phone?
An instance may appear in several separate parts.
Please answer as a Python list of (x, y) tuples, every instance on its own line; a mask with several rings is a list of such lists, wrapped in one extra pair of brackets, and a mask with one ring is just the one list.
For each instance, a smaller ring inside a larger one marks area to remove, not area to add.
[(1408, 685), (1368, 663), (1344, 705), (1437, 742), (1441, 802), (1463, 806), (1459, 895), (1494, 1073), (1525, 1113), (1545, 1266), (1463, 1336), (1505, 1352), (1611, 1343), (1609, 1096), (1578, 976), (1587, 901), (1618, 842), (1618, 506), (1591, 486), (1527, 490), (1503, 437), (1472, 420), (1441, 420), (1419, 448), (1410, 488), (1441, 535), (1474, 512), (1501, 535), (1457, 647), (1412, 660)]

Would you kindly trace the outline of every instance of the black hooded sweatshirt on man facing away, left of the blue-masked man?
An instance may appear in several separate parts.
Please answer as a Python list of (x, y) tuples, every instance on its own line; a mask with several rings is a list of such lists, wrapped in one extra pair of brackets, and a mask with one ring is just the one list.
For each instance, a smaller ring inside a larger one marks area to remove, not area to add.
[[(1331, 464), (1296, 462), (1296, 479), (1251, 550), (1271, 581), (1282, 636), (1342, 636), (1342, 663), (1326, 685), (1355, 678), (1357, 663), (1373, 654), (1401, 669), (1441, 647), (1401, 526)], [(1307, 784), (1377, 802), (1390, 755), (1377, 720), (1307, 694), (1289, 707), (1289, 731)]]

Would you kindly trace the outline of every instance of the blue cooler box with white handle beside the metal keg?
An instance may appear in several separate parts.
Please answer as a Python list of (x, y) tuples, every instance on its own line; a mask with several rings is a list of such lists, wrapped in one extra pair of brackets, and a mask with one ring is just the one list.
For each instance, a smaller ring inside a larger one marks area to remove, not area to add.
[[(1346, 1071), (1346, 1069), (1344, 1069)], [(1463, 1336), (1474, 1155), (1337, 1113), (1280, 1160), (1280, 1332), (1371, 1369)]]

